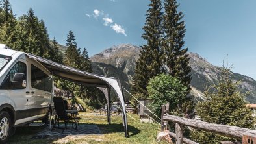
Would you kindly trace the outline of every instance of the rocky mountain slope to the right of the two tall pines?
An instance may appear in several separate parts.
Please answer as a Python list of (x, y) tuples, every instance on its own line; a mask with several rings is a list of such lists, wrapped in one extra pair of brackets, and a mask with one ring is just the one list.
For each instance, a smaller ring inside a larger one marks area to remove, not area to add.
[[(205, 87), (209, 88), (212, 84), (217, 84), (220, 79), (222, 67), (214, 66), (207, 62), (197, 53), (188, 53), (190, 57), (190, 66), (192, 67), (192, 93), (204, 99), (203, 91)], [(238, 89), (242, 93), (248, 93), (246, 100), (250, 103), (256, 102), (256, 81), (245, 75), (231, 72), (231, 78), (234, 82), (240, 81)]]

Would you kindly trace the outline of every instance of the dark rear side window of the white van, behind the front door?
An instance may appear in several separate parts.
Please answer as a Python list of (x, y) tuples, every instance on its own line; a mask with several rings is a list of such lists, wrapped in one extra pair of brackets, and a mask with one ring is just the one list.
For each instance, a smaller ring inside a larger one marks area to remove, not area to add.
[(53, 81), (44, 71), (31, 64), (31, 86), (38, 90), (52, 91)]

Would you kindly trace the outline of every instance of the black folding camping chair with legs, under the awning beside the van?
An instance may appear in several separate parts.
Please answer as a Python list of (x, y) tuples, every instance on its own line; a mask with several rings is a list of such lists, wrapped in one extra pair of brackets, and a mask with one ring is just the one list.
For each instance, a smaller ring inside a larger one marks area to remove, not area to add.
[(60, 121), (64, 121), (65, 128), (62, 130), (62, 133), (64, 132), (65, 129), (67, 129), (68, 123), (75, 124), (75, 130), (77, 130), (77, 125), (80, 117), (76, 117), (77, 112), (66, 112), (65, 110), (65, 104), (62, 99), (62, 97), (53, 97), (53, 103), (55, 106), (55, 111), (57, 114), (57, 117), (55, 119), (55, 123), (53, 125), (53, 128), (51, 131), (53, 131), (54, 128), (56, 128), (56, 124), (58, 123), (58, 128), (60, 127)]

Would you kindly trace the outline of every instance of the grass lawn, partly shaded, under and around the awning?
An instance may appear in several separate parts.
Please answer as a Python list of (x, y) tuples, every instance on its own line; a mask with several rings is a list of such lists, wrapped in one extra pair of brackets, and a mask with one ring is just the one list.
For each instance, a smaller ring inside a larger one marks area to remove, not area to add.
[[(130, 116), (129, 116), (130, 115)], [(160, 126), (155, 123), (140, 123), (136, 114), (128, 113), (129, 138), (124, 137), (122, 117), (113, 114), (112, 124), (107, 123), (106, 115), (96, 115), (96, 113), (79, 112), (82, 117), (80, 123), (96, 124), (103, 134), (100, 135), (73, 135), (65, 137), (49, 136), (47, 139), (31, 139), (42, 127), (19, 127), (16, 134), (10, 138), (10, 143), (157, 143), (157, 132)]]

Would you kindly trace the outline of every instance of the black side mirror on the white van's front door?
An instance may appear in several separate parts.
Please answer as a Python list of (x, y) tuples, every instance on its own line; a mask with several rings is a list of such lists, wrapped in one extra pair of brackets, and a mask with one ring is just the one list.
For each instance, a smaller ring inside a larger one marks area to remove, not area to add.
[(12, 80), (14, 88), (25, 88), (27, 86), (24, 73), (15, 73)]

